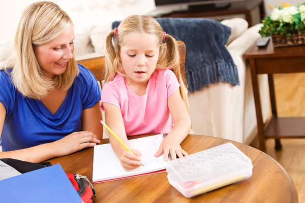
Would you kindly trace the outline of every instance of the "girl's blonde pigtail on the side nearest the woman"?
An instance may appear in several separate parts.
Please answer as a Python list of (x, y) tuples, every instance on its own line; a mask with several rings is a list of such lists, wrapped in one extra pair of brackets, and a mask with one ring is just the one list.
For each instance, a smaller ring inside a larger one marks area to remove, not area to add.
[[(105, 47), (105, 83), (111, 81), (115, 75), (119, 63), (119, 54), (115, 46), (112, 44), (114, 38), (114, 30), (111, 30), (106, 37)], [(115, 40), (114, 40), (115, 41)]]

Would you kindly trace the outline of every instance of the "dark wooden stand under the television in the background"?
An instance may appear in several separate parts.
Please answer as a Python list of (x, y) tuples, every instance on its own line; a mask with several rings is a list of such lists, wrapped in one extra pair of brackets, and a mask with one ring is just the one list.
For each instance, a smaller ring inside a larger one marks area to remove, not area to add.
[(232, 2), (229, 8), (212, 9), (207, 11), (176, 11), (170, 14), (162, 15), (162, 17), (172, 18), (200, 18), (209, 16), (227, 16), (234, 14), (244, 14), (249, 27), (253, 25), (252, 11), (259, 7), (260, 18), (265, 16), (265, 7), (263, 0), (246, 0), (242, 2)]

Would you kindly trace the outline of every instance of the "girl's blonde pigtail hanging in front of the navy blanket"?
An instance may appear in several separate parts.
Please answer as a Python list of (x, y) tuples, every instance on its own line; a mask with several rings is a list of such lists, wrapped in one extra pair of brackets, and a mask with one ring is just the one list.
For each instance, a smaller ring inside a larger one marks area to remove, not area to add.
[(164, 39), (166, 43), (166, 49), (162, 50), (162, 56), (160, 62), (163, 63), (166, 61), (166, 63), (163, 63), (163, 66), (170, 68), (175, 73), (178, 82), (180, 84), (179, 90), (180, 95), (182, 99), (184, 100), (184, 103), (187, 107), (188, 113), (190, 115), (190, 107), (189, 107), (189, 99), (188, 99), (188, 89), (186, 86), (186, 81), (182, 79), (181, 72), (180, 72), (180, 56), (179, 56), (179, 49), (178, 49), (178, 43), (177, 41), (170, 35), (166, 34), (166, 37)]

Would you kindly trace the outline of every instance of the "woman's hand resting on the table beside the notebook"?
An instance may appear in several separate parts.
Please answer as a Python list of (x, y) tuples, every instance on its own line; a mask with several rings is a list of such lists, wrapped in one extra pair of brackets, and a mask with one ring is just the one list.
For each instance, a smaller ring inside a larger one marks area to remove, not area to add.
[(94, 133), (80, 131), (53, 142), (52, 147), (56, 156), (65, 156), (86, 147), (93, 147), (100, 142)]

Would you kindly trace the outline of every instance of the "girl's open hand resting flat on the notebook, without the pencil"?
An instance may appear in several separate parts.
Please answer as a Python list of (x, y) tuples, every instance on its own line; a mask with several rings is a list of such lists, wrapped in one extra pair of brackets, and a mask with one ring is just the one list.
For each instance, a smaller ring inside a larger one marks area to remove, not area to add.
[(188, 153), (181, 149), (179, 143), (174, 141), (172, 138), (165, 137), (162, 141), (158, 152), (155, 154), (155, 157), (164, 154), (164, 160), (167, 161), (168, 154), (170, 153), (172, 159), (176, 159), (176, 156), (179, 158), (187, 156)]

